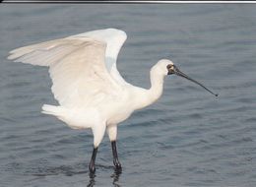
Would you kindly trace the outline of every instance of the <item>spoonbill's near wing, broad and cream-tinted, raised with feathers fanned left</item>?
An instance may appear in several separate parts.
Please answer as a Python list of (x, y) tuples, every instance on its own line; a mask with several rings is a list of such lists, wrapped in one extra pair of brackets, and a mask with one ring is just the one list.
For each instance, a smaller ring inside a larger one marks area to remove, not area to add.
[(106, 70), (105, 48), (93, 38), (66, 37), (15, 49), (8, 59), (49, 66), (51, 90), (61, 105), (95, 105), (120, 90)]

